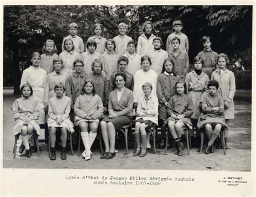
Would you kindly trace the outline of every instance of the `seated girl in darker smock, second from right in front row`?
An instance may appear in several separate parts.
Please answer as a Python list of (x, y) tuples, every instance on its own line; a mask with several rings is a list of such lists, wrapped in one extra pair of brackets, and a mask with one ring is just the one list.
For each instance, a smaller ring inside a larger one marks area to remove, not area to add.
[(175, 94), (169, 100), (167, 119), (169, 131), (176, 142), (175, 154), (183, 155), (183, 143), (180, 142), (183, 126), (192, 129), (190, 117), (194, 112), (194, 104), (191, 96), (187, 95), (187, 87), (184, 81), (178, 81), (175, 85)]

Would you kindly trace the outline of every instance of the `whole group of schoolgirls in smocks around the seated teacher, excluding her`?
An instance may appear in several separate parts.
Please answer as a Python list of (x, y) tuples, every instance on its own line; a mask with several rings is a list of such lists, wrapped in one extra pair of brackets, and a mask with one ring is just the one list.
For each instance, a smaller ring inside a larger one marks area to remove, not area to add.
[(66, 159), (67, 132), (74, 132), (75, 125), (80, 128), (85, 146), (82, 155), (90, 160), (100, 119), (110, 112), (110, 92), (122, 85), (122, 77), (117, 80), (120, 73), (125, 75), (125, 88), (133, 91), (133, 107), (137, 110), (134, 156), (146, 155), (153, 125), (161, 127), (160, 148), (164, 147), (166, 127), (169, 129), (176, 142), (175, 154), (179, 156), (183, 155), (180, 139), (184, 126), (196, 130), (197, 141), (200, 130), (205, 130), (206, 154), (214, 152), (214, 141), (221, 130), (225, 147), (229, 148), (226, 140), (229, 119), (234, 118), (235, 80), (227, 69), (228, 57), (212, 51), (211, 38), (204, 36), (204, 50), (193, 59), (194, 70), (190, 72), (188, 38), (181, 29), (183, 24), (174, 21), (166, 51), (161, 49), (162, 39), (152, 34), (151, 22), (144, 23), (144, 33), (138, 42), (126, 36), (124, 23), (118, 25), (119, 35), (113, 39), (102, 37), (103, 27), (96, 24), (95, 35), (87, 40), (85, 52), (76, 23), (69, 25), (70, 35), (63, 39), (59, 56), (55, 42), (46, 40), (43, 55), (32, 54), (32, 66), (22, 74), (22, 98), (12, 106), (12, 131), (21, 133), (26, 157), (31, 157), (32, 131), (40, 134), (39, 124), (44, 124), (48, 112), (50, 159), (56, 159), (58, 128), (62, 133), (61, 159)]

